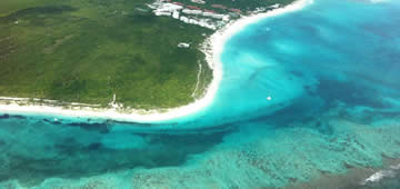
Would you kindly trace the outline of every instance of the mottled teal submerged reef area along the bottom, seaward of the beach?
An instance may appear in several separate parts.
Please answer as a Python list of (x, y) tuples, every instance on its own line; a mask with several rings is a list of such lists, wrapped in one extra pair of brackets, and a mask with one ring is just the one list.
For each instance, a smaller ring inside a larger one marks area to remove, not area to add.
[[(0, 179), (18, 180), (3, 186), (39, 188), (297, 185), (352, 168), (379, 168), (382, 158), (399, 158), (400, 118), (386, 119), (380, 111), (373, 115), (378, 121), (364, 125), (369, 112), (338, 105), (309, 122), (273, 126), (254, 121), (230, 131), (196, 135), (112, 129), (102, 133), (101, 128), (89, 131), (8, 119), (1, 122), (0, 145), (7, 150), (0, 158)], [(13, 125), (7, 128), (7, 121)], [(24, 140), (14, 141), (21, 138)], [(36, 150), (29, 150), (32, 148)]]

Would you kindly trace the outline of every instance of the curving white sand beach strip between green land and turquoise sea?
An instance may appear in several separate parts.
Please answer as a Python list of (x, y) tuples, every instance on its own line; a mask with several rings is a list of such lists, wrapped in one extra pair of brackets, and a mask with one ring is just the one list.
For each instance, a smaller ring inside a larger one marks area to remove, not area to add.
[[(220, 56), (227, 40), (229, 40), (234, 33), (239, 32), (250, 23), (257, 22), (268, 17), (274, 17), (286, 12), (300, 10), (312, 2), (313, 0), (297, 0), (283, 8), (252, 14), (249, 17), (242, 17), (241, 19), (231, 21), (226, 27), (209, 37), (202, 44), (201, 50), (206, 53), (207, 62), (213, 71), (213, 79), (209, 84), (206, 94), (201, 99), (198, 99), (187, 106), (167, 110), (130, 110), (129, 112), (122, 112), (119, 111), (118, 108), (104, 109), (84, 106), (80, 106), (78, 108), (72, 106), (73, 103), (71, 103), (71, 108), (62, 108), (46, 105), (31, 105), (27, 103), (28, 99), (22, 98), (0, 97), (0, 100), (8, 101), (8, 103), (0, 105), (0, 113), (34, 113), (53, 117), (66, 116), (79, 118), (100, 118), (132, 122), (160, 122), (193, 115), (210, 106), (214, 99), (214, 96), (217, 94), (219, 84), (222, 80), (222, 62), (220, 61)], [(24, 102), (27, 105), (20, 106), (18, 102)]]

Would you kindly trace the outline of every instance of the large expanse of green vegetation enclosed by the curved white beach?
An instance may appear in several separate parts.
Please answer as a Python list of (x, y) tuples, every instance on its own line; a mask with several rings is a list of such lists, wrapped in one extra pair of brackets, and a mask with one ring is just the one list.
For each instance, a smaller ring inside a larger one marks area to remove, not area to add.
[(0, 18), (0, 96), (106, 106), (116, 93), (129, 107), (167, 108), (193, 100), (198, 63), (202, 81), (212, 77), (198, 50), (212, 31), (154, 17), (148, 0), (13, 1), (0, 2), (0, 14), (16, 10)]

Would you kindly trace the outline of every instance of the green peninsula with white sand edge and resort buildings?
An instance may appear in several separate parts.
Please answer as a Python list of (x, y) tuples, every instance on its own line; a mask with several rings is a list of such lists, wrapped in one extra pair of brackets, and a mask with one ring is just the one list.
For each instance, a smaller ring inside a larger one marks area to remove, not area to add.
[(292, 2), (4, 0), (0, 111), (139, 120), (194, 112), (217, 92), (227, 26)]

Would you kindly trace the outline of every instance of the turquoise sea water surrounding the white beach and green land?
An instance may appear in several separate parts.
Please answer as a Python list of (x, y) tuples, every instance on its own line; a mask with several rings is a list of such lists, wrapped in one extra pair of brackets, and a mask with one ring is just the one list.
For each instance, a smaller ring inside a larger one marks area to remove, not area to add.
[(399, 1), (317, 0), (251, 24), (226, 44), (214, 103), (168, 123), (3, 115), (0, 182), (259, 188), (380, 168), (400, 158), (398, 14)]

